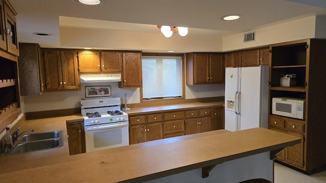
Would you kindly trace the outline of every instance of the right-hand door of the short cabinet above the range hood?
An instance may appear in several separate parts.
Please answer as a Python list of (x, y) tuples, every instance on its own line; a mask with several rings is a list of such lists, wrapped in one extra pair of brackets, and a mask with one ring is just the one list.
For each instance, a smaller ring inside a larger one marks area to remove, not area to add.
[(101, 52), (101, 69), (103, 72), (121, 72), (122, 71), (122, 53), (121, 52)]

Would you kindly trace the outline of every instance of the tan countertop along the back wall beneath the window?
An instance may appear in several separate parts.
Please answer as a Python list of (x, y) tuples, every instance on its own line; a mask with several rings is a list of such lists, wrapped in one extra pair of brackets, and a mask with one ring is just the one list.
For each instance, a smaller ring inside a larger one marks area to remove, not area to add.
[(192, 103), (183, 103), (175, 105), (162, 105), (162, 106), (151, 106), (151, 107), (135, 107), (125, 112), (129, 115), (139, 115), (147, 114), (155, 111), (159, 112), (169, 112), (176, 109), (187, 110), (187, 109), (197, 109), (198, 107), (223, 107), (224, 101), (222, 102), (192, 102)]

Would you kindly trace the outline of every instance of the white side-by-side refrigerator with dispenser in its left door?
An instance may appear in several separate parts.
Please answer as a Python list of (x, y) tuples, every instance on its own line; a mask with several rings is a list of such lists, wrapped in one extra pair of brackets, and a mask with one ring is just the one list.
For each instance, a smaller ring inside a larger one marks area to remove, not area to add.
[(267, 66), (225, 69), (225, 130), (268, 128)]

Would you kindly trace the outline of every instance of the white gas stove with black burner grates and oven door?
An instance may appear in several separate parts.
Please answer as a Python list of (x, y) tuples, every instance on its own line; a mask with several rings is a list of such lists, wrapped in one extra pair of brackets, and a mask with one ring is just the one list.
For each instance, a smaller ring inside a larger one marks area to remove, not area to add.
[(129, 145), (128, 114), (120, 98), (80, 101), (84, 117), (86, 153)]

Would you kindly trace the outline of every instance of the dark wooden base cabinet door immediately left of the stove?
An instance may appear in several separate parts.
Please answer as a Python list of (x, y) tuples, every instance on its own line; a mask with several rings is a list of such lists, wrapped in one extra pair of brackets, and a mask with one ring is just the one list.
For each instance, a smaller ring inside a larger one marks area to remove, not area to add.
[(69, 154), (76, 155), (83, 153), (82, 125), (67, 125)]

